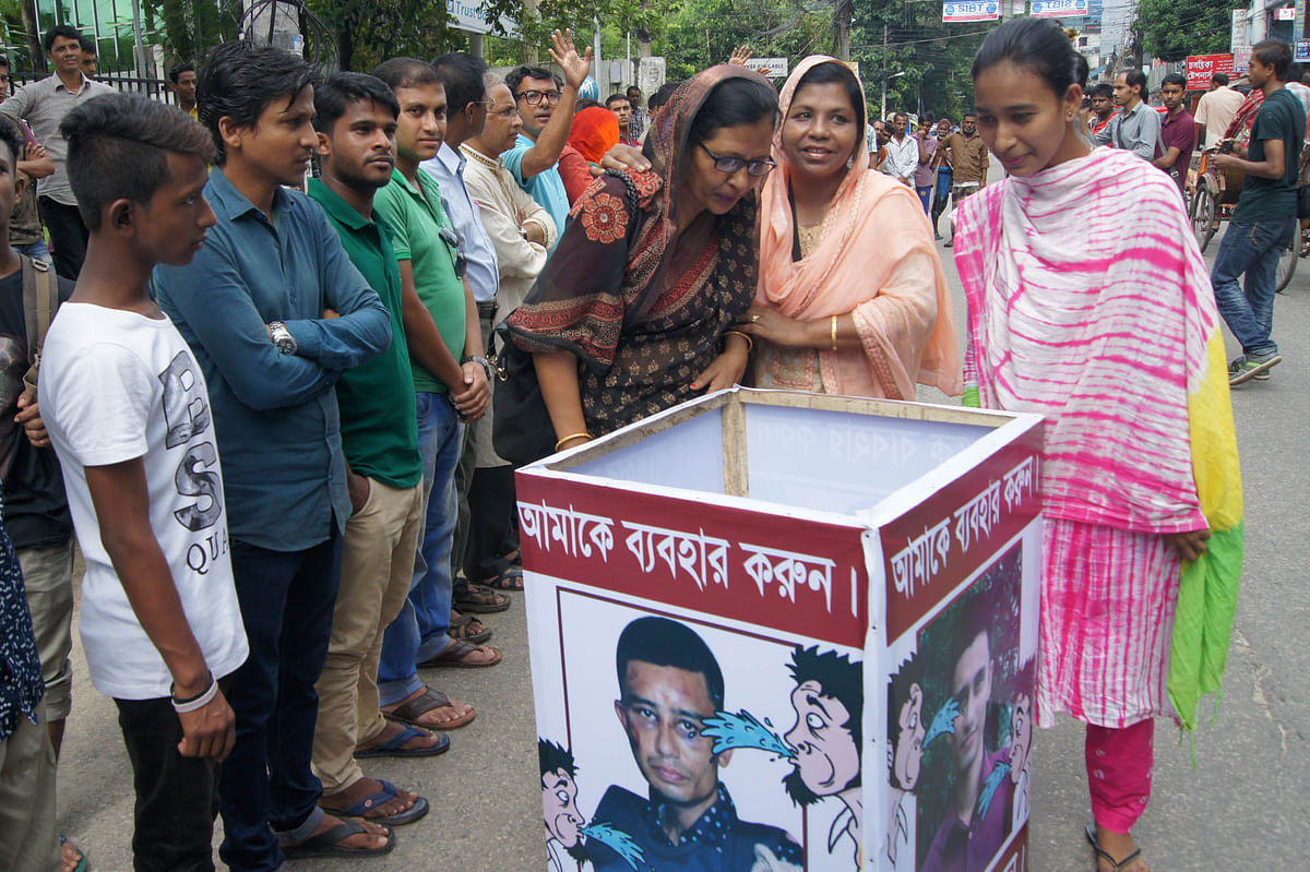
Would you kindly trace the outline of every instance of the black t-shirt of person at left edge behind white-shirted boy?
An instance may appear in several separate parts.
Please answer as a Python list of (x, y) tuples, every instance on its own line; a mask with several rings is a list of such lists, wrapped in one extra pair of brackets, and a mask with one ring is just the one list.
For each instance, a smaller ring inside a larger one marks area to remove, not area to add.
[[(59, 276), (59, 301), (73, 283)], [(33, 448), (14, 423), (22, 376), (28, 372), (28, 321), (22, 310), (22, 270), (0, 279), (0, 482), (4, 482), (4, 525), (14, 547), (63, 545), (73, 534), (68, 498), (52, 448)]]

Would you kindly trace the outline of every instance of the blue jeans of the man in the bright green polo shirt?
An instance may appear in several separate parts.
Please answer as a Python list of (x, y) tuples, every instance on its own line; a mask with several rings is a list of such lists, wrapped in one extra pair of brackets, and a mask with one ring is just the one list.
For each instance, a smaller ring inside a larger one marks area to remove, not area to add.
[(414, 555), (414, 580), (401, 613), (383, 635), (377, 693), (394, 706), (423, 686), (415, 664), (451, 644), (451, 547), (458, 518), (455, 467), (464, 446), (464, 424), (445, 394), (419, 391), (418, 449), (423, 456), (423, 536)]

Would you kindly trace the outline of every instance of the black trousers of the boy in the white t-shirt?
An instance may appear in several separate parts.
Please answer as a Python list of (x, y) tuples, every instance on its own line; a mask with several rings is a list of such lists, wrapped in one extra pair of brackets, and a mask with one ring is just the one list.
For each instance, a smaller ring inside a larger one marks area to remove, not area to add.
[(168, 697), (114, 702), (136, 788), (132, 868), (212, 872), (219, 765), (178, 753), (182, 721)]

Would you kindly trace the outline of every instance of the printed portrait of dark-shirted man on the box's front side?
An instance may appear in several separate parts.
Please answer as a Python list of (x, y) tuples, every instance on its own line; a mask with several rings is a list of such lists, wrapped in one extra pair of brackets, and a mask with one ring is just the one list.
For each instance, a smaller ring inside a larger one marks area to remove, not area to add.
[[(724, 710), (723, 670), (705, 640), (677, 621), (637, 618), (620, 634), (614, 661), (614, 712), (650, 799), (614, 784), (593, 820), (631, 835), (656, 869), (799, 869), (802, 850), (791, 835), (743, 821), (719, 782), (732, 752), (715, 754), (705, 735), (705, 719)], [(595, 839), (587, 852), (596, 872), (631, 868)]]

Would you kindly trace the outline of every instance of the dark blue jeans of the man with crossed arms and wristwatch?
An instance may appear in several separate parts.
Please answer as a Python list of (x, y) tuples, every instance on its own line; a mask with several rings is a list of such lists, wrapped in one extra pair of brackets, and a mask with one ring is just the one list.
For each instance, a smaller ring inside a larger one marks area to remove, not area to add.
[(278, 835), (307, 838), (322, 820), (322, 784), (309, 767), (318, 719), (314, 682), (328, 659), (341, 583), (341, 534), (304, 551), (232, 543), (250, 656), (232, 673), (237, 741), (223, 762), (219, 856), (233, 872), (282, 865)]

